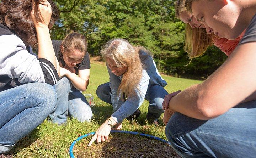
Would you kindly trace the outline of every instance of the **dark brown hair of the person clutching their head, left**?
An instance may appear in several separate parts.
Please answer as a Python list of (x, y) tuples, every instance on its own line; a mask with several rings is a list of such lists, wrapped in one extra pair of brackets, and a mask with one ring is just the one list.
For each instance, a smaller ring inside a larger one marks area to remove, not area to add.
[[(18, 35), (25, 45), (35, 47), (38, 43), (34, 23), (31, 18), (33, 3), (35, 16), (40, 15), (38, 4), (44, 0), (1, 0), (0, 2), (0, 23)], [(52, 17), (50, 24), (54, 24), (59, 18), (59, 9), (52, 0), (48, 0), (52, 6)]]

